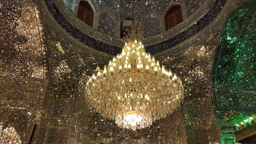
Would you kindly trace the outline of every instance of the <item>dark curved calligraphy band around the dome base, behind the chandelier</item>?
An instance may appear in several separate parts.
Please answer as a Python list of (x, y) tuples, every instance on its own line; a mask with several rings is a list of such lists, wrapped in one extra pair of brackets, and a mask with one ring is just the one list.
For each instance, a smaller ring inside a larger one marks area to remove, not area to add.
[[(207, 27), (215, 17), (220, 13), (222, 7), (226, 3), (227, 0), (216, 0), (213, 4), (212, 8), (208, 13), (204, 15), (199, 21), (197, 21), (193, 26), (183, 31), (182, 33), (162, 42), (159, 44), (151, 45), (145, 47), (146, 52), (155, 54), (158, 52), (162, 52), (167, 50), (175, 45), (178, 45), (188, 38), (196, 35), (198, 32)], [(52, 0), (44, 0), (48, 10), (51, 12), (54, 19), (59, 23), (59, 25), (64, 28), (71, 36), (76, 38), (78, 41), (86, 44), (89, 47), (92, 47), (98, 51), (106, 52), (108, 54), (116, 55), (122, 52), (122, 47), (112, 46), (106, 43), (102, 43), (93, 39), (92, 37), (84, 34), (79, 29), (75, 28), (71, 25), (68, 20), (63, 16), (63, 14), (59, 11), (57, 6), (53, 3)]]

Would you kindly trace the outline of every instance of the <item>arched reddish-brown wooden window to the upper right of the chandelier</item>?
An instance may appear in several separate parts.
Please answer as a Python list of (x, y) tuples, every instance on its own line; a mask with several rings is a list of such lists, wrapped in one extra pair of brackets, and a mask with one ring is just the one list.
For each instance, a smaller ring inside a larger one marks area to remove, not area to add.
[(183, 21), (180, 5), (173, 5), (165, 15), (166, 30)]

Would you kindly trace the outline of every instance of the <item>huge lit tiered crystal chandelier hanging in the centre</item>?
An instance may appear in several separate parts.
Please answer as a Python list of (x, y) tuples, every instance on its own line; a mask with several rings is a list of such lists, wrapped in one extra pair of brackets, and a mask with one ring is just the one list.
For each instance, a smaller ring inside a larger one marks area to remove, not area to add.
[(184, 88), (180, 77), (165, 70), (145, 52), (139, 28), (124, 33), (122, 53), (97, 70), (85, 87), (85, 98), (101, 116), (122, 128), (141, 129), (180, 106)]

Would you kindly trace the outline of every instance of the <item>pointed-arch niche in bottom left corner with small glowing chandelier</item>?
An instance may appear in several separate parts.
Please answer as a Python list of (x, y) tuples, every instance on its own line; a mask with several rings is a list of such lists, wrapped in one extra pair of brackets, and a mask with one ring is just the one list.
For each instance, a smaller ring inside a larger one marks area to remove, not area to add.
[(21, 144), (27, 124), (28, 119), (21, 112), (10, 117), (3, 126), (1, 143)]

